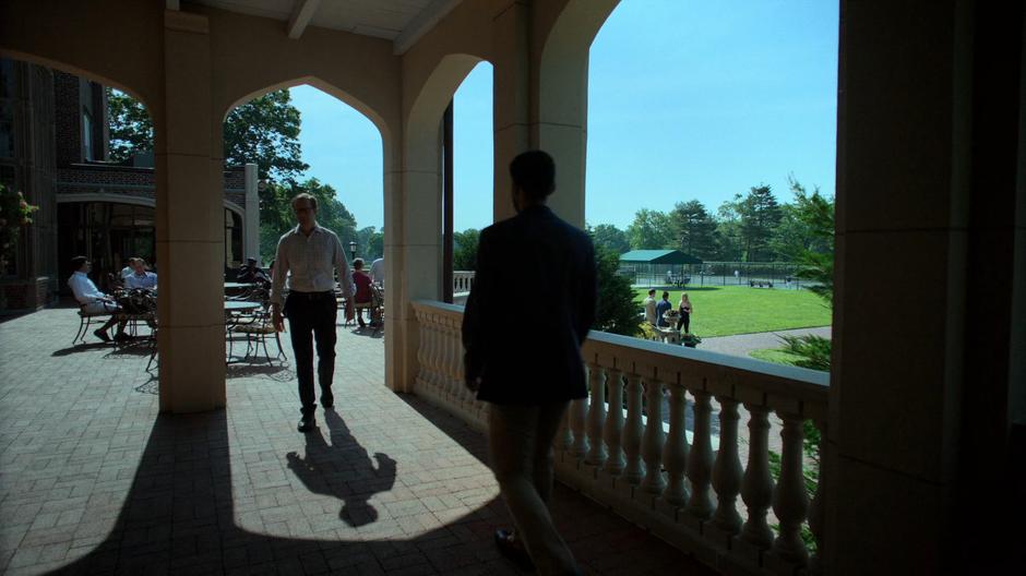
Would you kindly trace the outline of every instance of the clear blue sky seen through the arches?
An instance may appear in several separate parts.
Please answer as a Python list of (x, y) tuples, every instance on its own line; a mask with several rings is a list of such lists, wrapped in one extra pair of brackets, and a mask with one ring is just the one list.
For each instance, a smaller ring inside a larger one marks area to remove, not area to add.
[[(833, 194), (837, 19), (824, 0), (623, 0), (592, 47), (588, 223), (625, 228), (692, 199), (715, 212), (760, 183), (787, 201), (788, 173)], [(457, 230), (491, 223), (491, 85), (481, 63), (455, 97)], [(308, 175), (380, 227), (373, 124), (315, 88), (293, 98)]]

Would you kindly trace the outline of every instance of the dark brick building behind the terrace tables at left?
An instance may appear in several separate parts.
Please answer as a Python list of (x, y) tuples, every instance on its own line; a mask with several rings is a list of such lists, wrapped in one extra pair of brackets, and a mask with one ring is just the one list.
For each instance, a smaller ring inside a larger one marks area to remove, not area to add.
[[(131, 256), (159, 268), (153, 153), (115, 163), (109, 143), (106, 86), (0, 59), (0, 182), (39, 207), (0, 271), (0, 310), (34, 310), (67, 293), (75, 255), (92, 260), (102, 288)], [(255, 170), (225, 169), (226, 268), (259, 245), (259, 215), (246, 217), (247, 207), (256, 212), (255, 194)]]

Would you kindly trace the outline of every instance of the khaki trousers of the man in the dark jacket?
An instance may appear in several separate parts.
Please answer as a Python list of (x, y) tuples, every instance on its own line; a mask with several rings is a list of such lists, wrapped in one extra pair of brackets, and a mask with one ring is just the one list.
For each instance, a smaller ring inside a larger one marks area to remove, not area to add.
[(524, 542), (538, 574), (574, 574), (577, 565), (549, 515), (552, 495), (552, 441), (569, 403), (542, 406), (491, 405), (488, 444), (499, 490), (516, 538)]

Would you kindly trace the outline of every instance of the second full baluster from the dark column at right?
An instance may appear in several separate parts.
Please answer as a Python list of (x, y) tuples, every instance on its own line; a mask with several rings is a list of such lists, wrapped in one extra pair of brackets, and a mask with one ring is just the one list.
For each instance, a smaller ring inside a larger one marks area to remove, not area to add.
[(748, 506), (748, 520), (741, 529), (741, 539), (765, 550), (773, 543), (773, 531), (766, 523), (766, 512), (773, 500), (773, 477), (770, 476), (770, 419), (765, 406), (745, 404), (750, 418), (748, 467), (741, 480), (741, 500)]

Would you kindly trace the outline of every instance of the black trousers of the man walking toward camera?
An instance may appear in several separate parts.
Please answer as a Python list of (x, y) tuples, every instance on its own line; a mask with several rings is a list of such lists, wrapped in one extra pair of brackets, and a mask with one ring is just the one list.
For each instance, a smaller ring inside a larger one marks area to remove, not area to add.
[(313, 394), (313, 340), (317, 340), (318, 380), (321, 401), (333, 403), (332, 375), (335, 372), (335, 319), (338, 309), (332, 292), (289, 292), (285, 300), (293, 353), (296, 357), (296, 379), (299, 381), (300, 411), (303, 417), (317, 410)]

